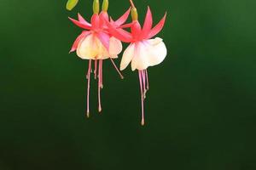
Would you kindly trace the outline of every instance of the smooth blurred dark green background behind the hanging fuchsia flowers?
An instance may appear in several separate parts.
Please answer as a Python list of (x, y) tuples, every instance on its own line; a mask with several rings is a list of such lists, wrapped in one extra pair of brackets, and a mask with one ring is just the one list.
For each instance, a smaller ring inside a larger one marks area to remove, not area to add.
[[(109, 0), (117, 19), (128, 0)], [(0, 170), (256, 169), (256, 1), (135, 0), (150, 5), (168, 48), (149, 68), (146, 126), (137, 72), (119, 80), (104, 62), (102, 115), (96, 82), (86, 119), (87, 61), (68, 51), (92, 1), (1, 0)], [(118, 60), (118, 65), (119, 65)]]

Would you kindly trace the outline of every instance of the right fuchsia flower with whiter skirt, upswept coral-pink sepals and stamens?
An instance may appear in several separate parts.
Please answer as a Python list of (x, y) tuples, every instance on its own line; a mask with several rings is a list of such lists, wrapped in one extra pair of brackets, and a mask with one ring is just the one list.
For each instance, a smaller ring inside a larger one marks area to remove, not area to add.
[[(136, 10), (133, 4), (132, 6), (132, 9)], [(129, 63), (131, 63), (132, 71), (135, 71), (136, 69), (138, 70), (142, 100), (142, 125), (144, 124), (143, 101), (148, 90), (148, 66), (159, 65), (166, 58), (167, 54), (166, 45), (160, 37), (156, 37), (154, 39), (150, 38), (154, 37), (161, 31), (165, 24), (165, 20), (166, 14), (160, 22), (152, 28), (152, 14), (148, 7), (143, 28), (137, 20), (136, 10), (136, 14), (133, 15), (131, 33), (123, 30), (122, 28), (117, 28), (111, 22), (107, 22), (109, 31), (113, 37), (118, 38), (122, 42), (131, 42), (123, 54), (120, 70), (124, 70)]]

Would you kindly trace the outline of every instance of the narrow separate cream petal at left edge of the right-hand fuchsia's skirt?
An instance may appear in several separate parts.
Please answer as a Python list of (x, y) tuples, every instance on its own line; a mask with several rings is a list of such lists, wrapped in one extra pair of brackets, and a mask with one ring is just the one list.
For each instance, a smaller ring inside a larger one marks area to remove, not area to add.
[(135, 51), (135, 44), (131, 43), (128, 48), (125, 49), (125, 52), (123, 54), (121, 64), (120, 64), (120, 70), (123, 71), (129, 65), (131, 62), (131, 59), (134, 56), (134, 51)]

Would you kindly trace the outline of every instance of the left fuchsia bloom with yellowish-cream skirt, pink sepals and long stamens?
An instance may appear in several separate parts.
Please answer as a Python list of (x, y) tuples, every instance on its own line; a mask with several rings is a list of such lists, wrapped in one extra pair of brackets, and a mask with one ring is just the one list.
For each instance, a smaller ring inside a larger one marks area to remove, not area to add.
[[(98, 1), (96, 1), (98, 3)], [(96, 4), (97, 5), (97, 4)], [(94, 7), (95, 10), (95, 7)], [(96, 7), (96, 12), (91, 17), (91, 20), (87, 22), (84, 18), (78, 14), (79, 20), (73, 20), (69, 18), (73, 24), (84, 29), (82, 33), (77, 37), (75, 42), (73, 42), (73, 47), (70, 53), (76, 51), (77, 55), (81, 59), (89, 59), (89, 66), (86, 78), (88, 79), (87, 84), (87, 116), (90, 114), (89, 108), (89, 97), (90, 97), (90, 72), (92, 68), (91, 61), (94, 60), (94, 74), (95, 79), (98, 77), (98, 111), (102, 111), (101, 105), (101, 88), (103, 87), (102, 81), (102, 60), (110, 59), (113, 63), (113, 59), (118, 58), (118, 54), (122, 51), (122, 43), (116, 37), (112, 37), (109, 33), (108, 26), (106, 25), (106, 20), (109, 20), (107, 10), (103, 10), (101, 14), (97, 12), (98, 7)], [(127, 20), (131, 9), (129, 8), (125, 14), (123, 14), (119, 20), (113, 21), (115, 27), (122, 27), (122, 25)], [(98, 61), (98, 64), (97, 64)], [(97, 69), (98, 65), (98, 69)], [(119, 72), (117, 66), (113, 63), (113, 66), (118, 71), (120, 77), (123, 78)]]

